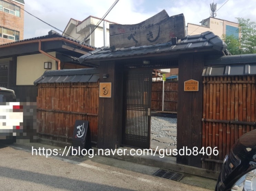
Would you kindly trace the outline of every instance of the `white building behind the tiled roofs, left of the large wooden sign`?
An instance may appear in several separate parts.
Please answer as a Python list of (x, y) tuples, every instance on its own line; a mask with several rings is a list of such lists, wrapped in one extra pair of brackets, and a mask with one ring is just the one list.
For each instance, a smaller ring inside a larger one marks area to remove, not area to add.
[(103, 20), (95, 28), (100, 20), (100, 18), (95, 16), (88, 16), (83, 21), (71, 18), (62, 35), (81, 42), (83, 41), (94, 47), (109, 46), (109, 24), (117, 23)]

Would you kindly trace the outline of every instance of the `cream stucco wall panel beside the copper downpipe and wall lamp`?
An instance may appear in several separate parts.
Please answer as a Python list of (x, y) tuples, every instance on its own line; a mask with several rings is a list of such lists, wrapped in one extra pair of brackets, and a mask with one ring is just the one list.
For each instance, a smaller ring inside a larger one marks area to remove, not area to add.
[[(56, 56), (56, 52), (49, 53)], [(44, 62), (52, 62), (52, 70), (56, 70), (55, 60), (43, 55), (19, 56), (17, 58), (17, 85), (34, 85), (34, 81), (38, 79), (46, 69), (43, 68)]]

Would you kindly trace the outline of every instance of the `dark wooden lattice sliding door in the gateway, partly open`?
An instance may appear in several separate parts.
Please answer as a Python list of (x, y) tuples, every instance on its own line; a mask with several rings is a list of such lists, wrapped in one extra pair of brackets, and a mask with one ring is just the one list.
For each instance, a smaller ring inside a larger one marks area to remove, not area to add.
[(150, 148), (152, 70), (124, 72), (122, 144)]

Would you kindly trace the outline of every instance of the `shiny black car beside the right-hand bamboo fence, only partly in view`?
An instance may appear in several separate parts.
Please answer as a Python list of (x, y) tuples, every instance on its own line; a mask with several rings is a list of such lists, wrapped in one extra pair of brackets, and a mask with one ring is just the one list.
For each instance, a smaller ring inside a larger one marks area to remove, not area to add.
[(223, 161), (215, 191), (256, 191), (256, 129), (241, 136)]

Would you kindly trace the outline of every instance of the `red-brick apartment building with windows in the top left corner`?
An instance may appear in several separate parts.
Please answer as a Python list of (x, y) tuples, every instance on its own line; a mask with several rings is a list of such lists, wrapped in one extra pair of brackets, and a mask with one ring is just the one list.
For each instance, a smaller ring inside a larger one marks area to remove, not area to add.
[(24, 0), (0, 0), (0, 44), (23, 40)]

